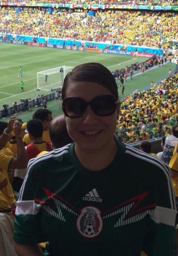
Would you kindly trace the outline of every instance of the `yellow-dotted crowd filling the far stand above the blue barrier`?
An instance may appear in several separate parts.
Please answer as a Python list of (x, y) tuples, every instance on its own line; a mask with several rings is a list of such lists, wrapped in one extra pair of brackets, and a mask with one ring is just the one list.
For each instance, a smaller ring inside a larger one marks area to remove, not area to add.
[(0, 33), (117, 44), (169, 47), (177, 35), (176, 12), (87, 11), (1, 7)]

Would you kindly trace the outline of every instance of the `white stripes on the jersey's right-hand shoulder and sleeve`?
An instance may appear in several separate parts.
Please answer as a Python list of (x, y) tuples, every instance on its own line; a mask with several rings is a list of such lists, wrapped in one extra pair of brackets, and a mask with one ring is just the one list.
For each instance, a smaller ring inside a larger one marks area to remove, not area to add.
[(172, 182), (171, 182), (171, 178), (170, 178), (170, 169), (168, 167), (168, 165), (164, 164), (162, 161), (160, 161), (158, 158), (156, 158), (155, 156), (151, 156), (137, 148), (133, 148), (129, 145), (125, 145), (126, 147), (126, 154), (132, 155), (134, 157), (143, 159), (149, 163), (152, 163), (156, 166), (158, 166), (166, 175), (167, 178), (167, 185), (168, 185), (168, 192), (169, 192), (169, 198), (170, 198), (170, 203), (171, 203), (171, 207), (172, 209), (176, 210), (177, 206), (176, 206), (176, 201), (175, 201), (175, 196), (174, 196), (174, 189), (172, 187)]

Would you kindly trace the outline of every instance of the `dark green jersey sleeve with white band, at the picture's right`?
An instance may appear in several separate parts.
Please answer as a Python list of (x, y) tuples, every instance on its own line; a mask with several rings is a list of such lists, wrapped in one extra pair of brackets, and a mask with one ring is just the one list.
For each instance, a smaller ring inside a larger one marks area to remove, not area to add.
[(143, 251), (149, 256), (174, 256), (175, 217), (177, 204), (169, 177), (169, 168), (162, 166), (156, 193), (156, 207), (150, 214), (149, 232), (145, 237)]

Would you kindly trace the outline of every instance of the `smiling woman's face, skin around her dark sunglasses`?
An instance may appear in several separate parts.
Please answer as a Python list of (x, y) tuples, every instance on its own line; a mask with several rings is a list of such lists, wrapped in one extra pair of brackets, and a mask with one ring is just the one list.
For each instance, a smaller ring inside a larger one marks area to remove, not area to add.
[[(87, 102), (98, 95), (112, 94), (108, 89), (94, 82), (74, 82), (67, 85), (65, 98), (80, 97)], [(78, 118), (65, 117), (67, 131), (80, 150), (98, 150), (113, 143), (116, 121), (119, 113), (117, 105), (114, 114), (98, 116), (87, 106), (85, 113)]]

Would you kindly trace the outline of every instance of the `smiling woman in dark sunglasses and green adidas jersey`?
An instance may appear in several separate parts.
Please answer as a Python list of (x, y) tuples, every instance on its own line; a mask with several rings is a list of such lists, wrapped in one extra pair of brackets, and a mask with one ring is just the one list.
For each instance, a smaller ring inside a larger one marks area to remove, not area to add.
[[(71, 145), (32, 159), (15, 213), (18, 255), (173, 255), (176, 202), (169, 170), (114, 139), (117, 85), (99, 63), (64, 79)], [(166, 241), (166, 243), (165, 243)]]

